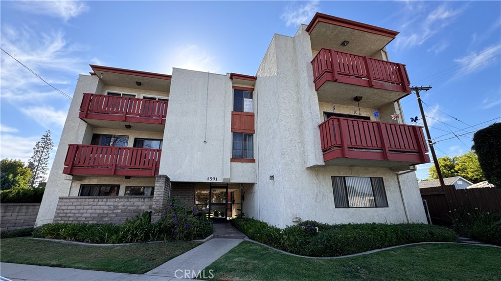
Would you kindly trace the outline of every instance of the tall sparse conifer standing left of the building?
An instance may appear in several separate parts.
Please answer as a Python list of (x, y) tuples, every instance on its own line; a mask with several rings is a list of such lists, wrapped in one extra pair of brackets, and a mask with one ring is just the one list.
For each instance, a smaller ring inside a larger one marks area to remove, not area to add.
[(33, 147), (33, 156), (28, 160), (28, 167), (32, 171), (31, 187), (34, 187), (39, 181), (45, 180), (52, 148), (54, 148), (54, 142), (51, 139), (51, 130), (48, 130), (42, 139), (37, 141)]

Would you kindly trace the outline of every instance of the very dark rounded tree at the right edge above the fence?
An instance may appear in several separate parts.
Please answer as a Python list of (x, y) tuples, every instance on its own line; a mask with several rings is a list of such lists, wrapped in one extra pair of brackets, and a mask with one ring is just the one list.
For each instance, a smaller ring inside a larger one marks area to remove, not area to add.
[(501, 123), (493, 123), (473, 135), (473, 150), (485, 178), (501, 188)]

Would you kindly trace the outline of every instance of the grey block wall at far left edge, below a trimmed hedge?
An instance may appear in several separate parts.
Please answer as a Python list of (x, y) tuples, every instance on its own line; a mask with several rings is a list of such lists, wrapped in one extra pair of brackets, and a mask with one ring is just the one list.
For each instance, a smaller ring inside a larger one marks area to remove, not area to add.
[(0, 230), (33, 227), (40, 203), (2, 203), (0, 205)]

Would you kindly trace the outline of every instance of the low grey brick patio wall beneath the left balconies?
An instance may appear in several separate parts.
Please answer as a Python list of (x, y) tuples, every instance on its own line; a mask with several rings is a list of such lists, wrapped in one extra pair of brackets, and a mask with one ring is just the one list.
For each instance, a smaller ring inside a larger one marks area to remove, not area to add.
[(128, 217), (151, 211), (152, 204), (153, 196), (59, 197), (54, 222), (120, 224)]

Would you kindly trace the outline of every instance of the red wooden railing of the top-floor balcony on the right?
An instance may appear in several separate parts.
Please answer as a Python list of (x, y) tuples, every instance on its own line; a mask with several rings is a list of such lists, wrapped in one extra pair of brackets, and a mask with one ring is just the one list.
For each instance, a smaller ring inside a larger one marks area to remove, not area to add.
[(326, 81), (410, 92), (405, 65), (322, 48), (312, 60), (313, 81), (318, 90)]

